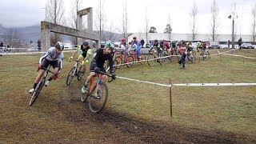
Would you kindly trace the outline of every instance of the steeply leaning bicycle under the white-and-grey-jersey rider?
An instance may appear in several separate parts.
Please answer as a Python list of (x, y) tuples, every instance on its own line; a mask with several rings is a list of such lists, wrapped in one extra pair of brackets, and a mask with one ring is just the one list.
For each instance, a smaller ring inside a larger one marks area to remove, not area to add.
[(42, 67), (42, 70), (46, 70), (46, 71), (42, 75), (42, 78), (40, 79), (40, 81), (38, 82), (38, 85), (34, 89), (34, 93), (32, 94), (32, 97), (30, 98), (30, 106), (32, 106), (34, 101), (38, 98), (38, 94), (40, 94), (40, 92), (42, 90), (42, 86), (44, 86), (44, 84), (46, 82), (46, 77), (47, 77), (48, 73), (50, 72), (50, 73), (54, 74), (54, 72), (50, 70), (50, 66), (48, 66), (47, 69)]

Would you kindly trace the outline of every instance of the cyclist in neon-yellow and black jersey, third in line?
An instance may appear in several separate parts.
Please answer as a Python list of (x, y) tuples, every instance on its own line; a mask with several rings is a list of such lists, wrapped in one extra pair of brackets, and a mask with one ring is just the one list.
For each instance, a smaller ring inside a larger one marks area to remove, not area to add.
[(78, 49), (74, 51), (74, 53), (69, 58), (69, 61), (71, 62), (73, 60), (74, 54), (78, 53), (78, 50), (82, 50), (82, 53), (78, 56), (77, 61), (81, 62), (82, 65), (82, 73), (86, 71), (86, 65), (85, 62), (89, 62), (90, 56), (92, 54), (89, 42), (82, 42), (82, 45), (78, 46)]

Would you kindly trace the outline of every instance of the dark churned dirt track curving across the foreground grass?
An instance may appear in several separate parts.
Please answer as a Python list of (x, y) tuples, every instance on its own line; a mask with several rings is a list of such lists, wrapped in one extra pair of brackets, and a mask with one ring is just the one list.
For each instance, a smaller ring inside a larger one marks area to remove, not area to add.
[[(74, 92), (70, 93), (75, 95)], [(59, 106), (65, 107), (63, 112), (68, 121), (84, 126), (83, 129), (90, 130), (90, 134), (94, 133), (92, 138), (97, 140), (92, 142), (96, 143), (256, 143), (255, 138), (242, 134), (166, 123), (147, 123), (108, 109), (104, 109), (100, 114), (92, 114), (87, 103), (83, 106), (85, 111), (74, 112), (71, 110), (74, 104), (81, 105), (79, 98), (72, 97), (66, 100), (65, 105), (62, 103)]]

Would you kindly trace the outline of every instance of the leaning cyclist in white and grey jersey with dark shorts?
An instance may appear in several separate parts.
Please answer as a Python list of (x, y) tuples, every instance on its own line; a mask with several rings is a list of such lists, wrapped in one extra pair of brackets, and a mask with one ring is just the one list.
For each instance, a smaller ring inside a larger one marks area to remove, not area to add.
[(62, 62), (64, 60), (64, 54), (62, 52), (63, 49), (64, 46), (62, 42), (57, 42), (55, 47), (50, 47), (50, 49), (46, 51), (46, 54), (39, 59), (38, 70), (40, 70), (40, 72), (37, 78), (35, 78), (33, 89), (29, 91), (30, 94), (34, 93), (35, 87), (38, 85), (42, 75), (45, 73), (45, 70), (43, 70), (42, 67), (47, 68), (49, 65), (54, 67), (54, 74), (52, 74), (51, 77), (46, 81), (45, 86), (49, 86), (52, 79), (58, 78), (58, 75), (62, 70)]

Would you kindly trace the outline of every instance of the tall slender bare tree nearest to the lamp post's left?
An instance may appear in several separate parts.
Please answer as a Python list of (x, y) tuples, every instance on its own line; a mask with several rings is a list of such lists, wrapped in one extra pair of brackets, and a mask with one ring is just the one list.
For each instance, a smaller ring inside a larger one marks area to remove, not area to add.
[(210, 22), (210, 40), (217, 41), (218, 40), (218, 4), (216, 0), (211, 5), (211, 22)]

